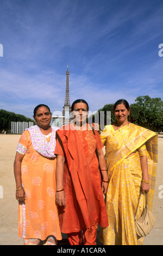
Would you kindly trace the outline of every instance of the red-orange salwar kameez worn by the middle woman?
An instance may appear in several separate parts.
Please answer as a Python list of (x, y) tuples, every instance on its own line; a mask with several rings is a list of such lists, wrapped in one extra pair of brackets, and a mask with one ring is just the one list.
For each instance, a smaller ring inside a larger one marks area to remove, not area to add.
[[(59, 206), (60, 227), (71, 244), (80, 239), (80, 230), (90, 239), (85, 244), (96, 244), (97, 224), (108, 227), (96, 148), (103, 148), (96, 131), (95, 135), (90, 129), (79, 131), (71, 124), (57, 131), (55, 154), (65, 156), (66, 207)], [(72, 236), (76, 237), (73, 241)]]

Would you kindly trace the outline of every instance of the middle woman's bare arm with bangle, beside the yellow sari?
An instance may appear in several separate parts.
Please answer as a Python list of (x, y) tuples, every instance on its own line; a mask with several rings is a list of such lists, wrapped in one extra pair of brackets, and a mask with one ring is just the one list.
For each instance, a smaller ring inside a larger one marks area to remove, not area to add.
[(103, 194), (105, 194), (108, 188), (109, 181), (108, 181), (108, 172), (106, 170), (105, 157), (102, 149), (98, 150), (98, 160), (99, 160), (99, 167), (102, 173), (102, 191), (103, 191)]

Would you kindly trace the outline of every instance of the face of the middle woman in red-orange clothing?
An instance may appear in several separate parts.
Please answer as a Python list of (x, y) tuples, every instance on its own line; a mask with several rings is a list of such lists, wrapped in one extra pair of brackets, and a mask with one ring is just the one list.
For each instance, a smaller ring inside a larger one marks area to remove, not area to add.
[(76, 103), (73, 108), (73, 116), (76, 124), (84, 124), (87, 118), (87, 106), (83, 102)]

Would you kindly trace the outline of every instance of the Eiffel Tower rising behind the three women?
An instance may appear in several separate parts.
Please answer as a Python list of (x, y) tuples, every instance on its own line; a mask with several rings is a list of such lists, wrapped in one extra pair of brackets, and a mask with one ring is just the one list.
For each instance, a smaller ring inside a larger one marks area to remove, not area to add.
[(68, 71), (68, 65), (67, 65), (65, 103), (64, 103), (64, 107), (63, 107), (63, 111), (62, 111), (62, 115), (65, 117), (65, 119), (69, 119), (70, 118), (69, 116), (71, 113), (69, 75), (70, 75), (70, 72)]

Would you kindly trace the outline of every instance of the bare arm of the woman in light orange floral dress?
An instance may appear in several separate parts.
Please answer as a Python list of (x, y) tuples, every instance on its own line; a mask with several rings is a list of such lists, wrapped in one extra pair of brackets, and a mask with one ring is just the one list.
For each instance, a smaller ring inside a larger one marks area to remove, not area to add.
[(16, 181), (16, 199), (19, 202), (24, 202), (25, 200), (25, 193), (22, 187), (22, 178), (21, 178), (21, 164), (23, 160), (24, 155), (16, 152), (15, 161), (14, 161), (14, 175), (15, 175), (15, 181)]

